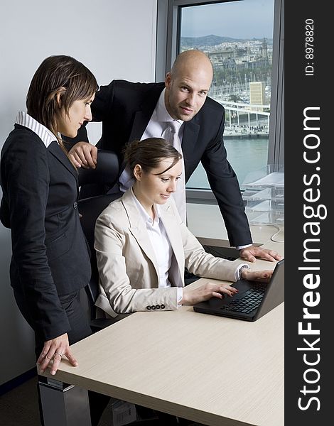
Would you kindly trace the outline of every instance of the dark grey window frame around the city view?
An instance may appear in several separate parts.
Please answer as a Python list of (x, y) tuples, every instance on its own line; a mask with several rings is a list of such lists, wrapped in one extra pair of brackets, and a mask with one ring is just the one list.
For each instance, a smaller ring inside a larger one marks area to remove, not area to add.
[[(237, 0), (157, 0), (156, 82), (165, 80), (178, 55), (181, 7)], [(267, 164), (284, 166), (284, 0), (274, 0), (273, 60)], [(186, 189), (187, 202), (217, 204), (212, 190)]]

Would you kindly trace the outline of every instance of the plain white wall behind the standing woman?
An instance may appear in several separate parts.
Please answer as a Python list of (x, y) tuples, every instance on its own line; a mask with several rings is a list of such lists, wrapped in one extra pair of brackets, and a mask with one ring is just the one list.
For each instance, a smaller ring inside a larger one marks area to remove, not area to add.
[[(0, 148), (28, 85), (49, 55), (71, 55), (99, 84), (114, 78), (154, 81), (156, 0), (1, 1)], [(99, 124), (90, 124), (97, 141)], [(1, 195), (1, 190), (0, 190)], [(9, 283), (10, 231), (0, 224), (0, 385), (35, 365), (33, 333), (18, 311)]]

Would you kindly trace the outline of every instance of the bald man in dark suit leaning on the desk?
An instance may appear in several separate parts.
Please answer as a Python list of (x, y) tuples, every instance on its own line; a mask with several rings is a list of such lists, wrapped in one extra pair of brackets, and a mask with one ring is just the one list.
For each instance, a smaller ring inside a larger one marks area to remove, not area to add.
[[(82, 126), (77, 138), (70, 141), (70, 155), (78, 168), (94, 168), (98, 147), (116, 152), (122, 164), (122, 150), (127, 142), (165, 137), (168, 122), (177, 120), (181, 124), (178, 136), (185, 182), (201, 162), (220, 207), (230, 245), (250, 262), (256, 257), (279, 260), (276, 252), (252, 245), (239, 182), (227, 160), (222, 138), (225, 109), (208, 97), (212, 77), (208, 56), (200, 50), (186, 50), (178, 55), (164, 83), (114, 80), (100, 87), (92, 103), (92, 121), (102, 121), (102, 138), (96, 146), (91, 145)], [(119, 189), (124, 192), (130, 185), (131, 177), (121, 169)]]

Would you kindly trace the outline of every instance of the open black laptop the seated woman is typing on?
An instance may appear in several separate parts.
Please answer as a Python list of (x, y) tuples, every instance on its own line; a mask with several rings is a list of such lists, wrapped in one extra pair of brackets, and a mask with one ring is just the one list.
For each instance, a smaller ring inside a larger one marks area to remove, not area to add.
[(195, 312), (256, 321), (284, 302), (284, 259), (276, 263), (269, 283), (238, 280), (231, 284), (239, 290), (233, 297), (212, 297), (193, 306)]

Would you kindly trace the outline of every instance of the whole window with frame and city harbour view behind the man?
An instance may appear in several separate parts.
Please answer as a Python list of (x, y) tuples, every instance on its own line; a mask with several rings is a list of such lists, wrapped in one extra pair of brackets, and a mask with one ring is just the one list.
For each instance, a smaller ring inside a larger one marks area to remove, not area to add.
[[(158, 21), (157, 60), (164, 54), (166, 69), (157, 67), (157, 80), (183, 50), (208, 54), (214, 67), (209, 96), (225, 107), (227, 158), (240, 184), (253, 170), (284, 163), (282, 9), (282, 0), (158, 1), (158, 16), (168, 16), (168, 38), (166, 44), (165, 33), (159, 42)], [(210, 192), (202, 165), (187, 188)]]

